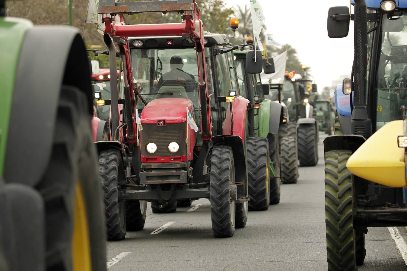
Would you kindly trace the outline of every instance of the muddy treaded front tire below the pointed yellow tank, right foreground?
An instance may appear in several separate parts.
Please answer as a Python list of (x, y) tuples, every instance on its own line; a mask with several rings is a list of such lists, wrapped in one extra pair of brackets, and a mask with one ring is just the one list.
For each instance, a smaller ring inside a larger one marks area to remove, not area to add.
[(356, 270), (349, 150), (325, 153), (325, 224), (328, 270)]

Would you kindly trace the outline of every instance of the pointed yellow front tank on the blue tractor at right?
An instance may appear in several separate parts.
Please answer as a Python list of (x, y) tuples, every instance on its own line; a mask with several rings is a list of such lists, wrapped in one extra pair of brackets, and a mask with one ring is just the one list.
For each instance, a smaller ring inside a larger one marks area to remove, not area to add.
[(387, 123), (350, 156), (346, 167), (352, 174), (371, 182), (406, 186), (405, 149), (397, 145), (398, 136), (403, 134), (402, 120)]

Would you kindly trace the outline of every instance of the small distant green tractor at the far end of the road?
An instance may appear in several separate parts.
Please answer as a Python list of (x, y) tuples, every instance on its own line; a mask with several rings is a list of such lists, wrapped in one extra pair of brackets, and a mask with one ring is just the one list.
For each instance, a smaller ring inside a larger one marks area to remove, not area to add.
[(333, 135), (335, 126), (335, 111), (330, 100), (317, 100), (314, 102), (317, 109), (319, 131)]

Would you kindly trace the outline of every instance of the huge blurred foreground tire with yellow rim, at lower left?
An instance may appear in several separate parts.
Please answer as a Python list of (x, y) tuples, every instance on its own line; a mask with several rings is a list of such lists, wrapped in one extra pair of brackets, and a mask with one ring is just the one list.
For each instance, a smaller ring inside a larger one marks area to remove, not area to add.
[[(105, 219), (87, 104), (82, 91), (62, 87), (50, 162), (35, 187), (44, 199), (46, 211), (46, 270), (78, 268), (81, 259), (73, 258), (72, 250), (89, 253), (91, 269), (82, 265), (82, 270), (106, 270)], [(86, 225), (87, 232), (82, 232), (84, 235), (77, 242), (79, 217), (85, 219), (82, 225)], [(88, 240), (84, 241), (86, 236)]]

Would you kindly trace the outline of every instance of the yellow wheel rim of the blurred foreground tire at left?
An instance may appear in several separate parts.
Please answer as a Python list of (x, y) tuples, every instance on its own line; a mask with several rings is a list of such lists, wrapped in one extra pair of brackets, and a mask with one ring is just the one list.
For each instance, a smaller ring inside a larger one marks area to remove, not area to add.
[(92, 269), (91, 262), (85, 197), (83, 196), (81, 182), (77, 180), (75, 184), (74, 232), (72, 237), (73, 270), (90, 271)]

